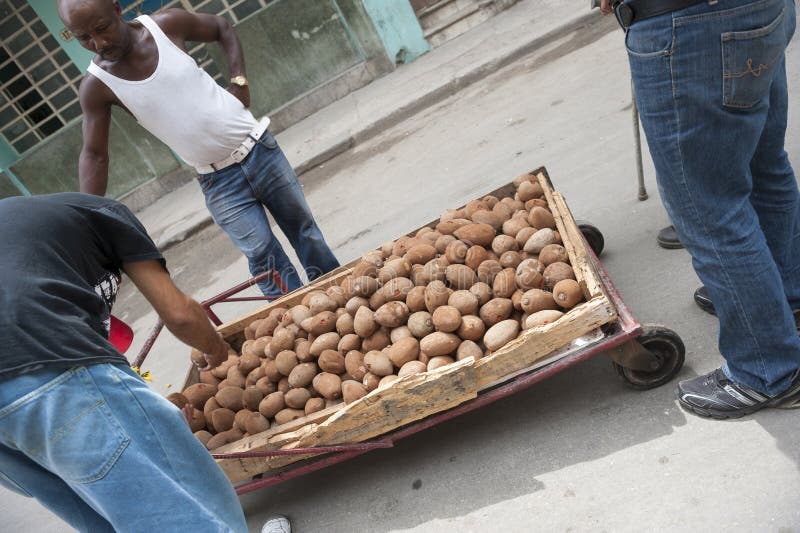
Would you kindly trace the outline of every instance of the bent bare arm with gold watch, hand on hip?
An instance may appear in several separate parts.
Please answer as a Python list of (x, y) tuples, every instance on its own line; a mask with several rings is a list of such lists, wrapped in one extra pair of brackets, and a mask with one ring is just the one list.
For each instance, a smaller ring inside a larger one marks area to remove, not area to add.
[[(244, 53), (242, 45), (233, 27), (224, 17), (205, 15), (202, 13), (189, 13), (182, 9), (167, 9), (154, 16), (154, 19), (176, 44), (186, 50), (186, 41), (201, 43), (218, 42), (225, 52), (228, 61), (228, 70), (231, 77), (247, 76), (244, 68)], [(248, 86), (228, 87), (245, 107), (250, 107), (250, 90)]]

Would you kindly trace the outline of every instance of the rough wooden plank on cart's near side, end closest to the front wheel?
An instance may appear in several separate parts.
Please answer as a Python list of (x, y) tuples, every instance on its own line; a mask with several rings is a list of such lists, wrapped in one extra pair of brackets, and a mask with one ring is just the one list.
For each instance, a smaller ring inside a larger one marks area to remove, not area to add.
[(616, 320), (616, 316), (611, 302), (604, 297), (598, 297), (575, 307), (553, 323), (522, 332), (494, 354), (475, 363), (478, 390), (533, 365), (573, 339)]

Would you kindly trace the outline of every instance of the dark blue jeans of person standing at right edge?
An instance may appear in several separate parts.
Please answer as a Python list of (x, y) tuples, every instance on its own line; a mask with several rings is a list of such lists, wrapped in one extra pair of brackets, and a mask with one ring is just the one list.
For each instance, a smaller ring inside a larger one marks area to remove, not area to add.
[(784, 150), (792, 0), (707, 2), (626, 46), (661, 198), (719, 315), (723, 370), (774, 395), (800, 368), (800, 195)]

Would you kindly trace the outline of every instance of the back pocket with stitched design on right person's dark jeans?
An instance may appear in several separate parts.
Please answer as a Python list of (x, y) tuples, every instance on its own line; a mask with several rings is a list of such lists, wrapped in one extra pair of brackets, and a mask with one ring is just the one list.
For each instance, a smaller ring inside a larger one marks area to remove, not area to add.
[(786, 8), (768, 25), (723, 33), (722, 103), (749, 109), (769, 95), (773, 67), (786, 48)]

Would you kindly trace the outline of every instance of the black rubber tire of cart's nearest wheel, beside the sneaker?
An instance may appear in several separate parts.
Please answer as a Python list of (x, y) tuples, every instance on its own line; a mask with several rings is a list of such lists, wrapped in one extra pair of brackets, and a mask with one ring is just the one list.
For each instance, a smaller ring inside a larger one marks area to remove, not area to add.
[(644, 333), (636, 342), (647, 348), (661, 365), (652, 372), (625, 368), (618, 363), (611, 363), (625, 383), (637, 390), (648, 390), (660, 387), (675, 377), (686, 359), (686, 347), (677, 333), (664, 326), (647, 324)]

